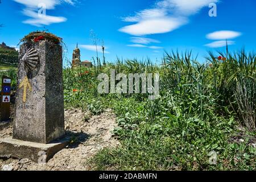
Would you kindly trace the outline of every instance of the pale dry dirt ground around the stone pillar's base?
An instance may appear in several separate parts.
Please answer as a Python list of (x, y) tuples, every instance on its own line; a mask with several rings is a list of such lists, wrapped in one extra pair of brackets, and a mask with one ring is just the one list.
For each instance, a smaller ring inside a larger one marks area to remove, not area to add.
[[(0, 126), (0, 138), (10, 137), (13, 133), (13, 123)], [(71, 144), (59, 151), (46, 164), (37, 164), (29, 159), (0, 158), (0, 170), (53, 170), (72, 171), (90, 170), (88, 159), (92, 158), (104, 147), (119, 145), (112, 135), (117, 126), (115, 115), (106, 110), (98, 116), (90, 116), (88, 112), (80, 109), (65, 110), (66, 134), (72, 138)]]

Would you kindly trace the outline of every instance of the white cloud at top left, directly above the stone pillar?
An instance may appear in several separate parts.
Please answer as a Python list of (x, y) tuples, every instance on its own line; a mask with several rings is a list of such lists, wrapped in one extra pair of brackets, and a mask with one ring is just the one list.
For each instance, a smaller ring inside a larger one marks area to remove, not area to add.
[(68, 3), (69, 5), (75, 5), (76, 0), (13, 0), (17, 3), (24, 5), (22, 13), (30, 19), (24, 20), (23, 23), (31, 24), (33, 26), (42, 27), (52, 23), (61, 23), (67, 21), (67, 18), (63, 16), (51, 16), (38, 14), (40, 8), (46, 10), (55, 9), (57, 5), (61, 3)]

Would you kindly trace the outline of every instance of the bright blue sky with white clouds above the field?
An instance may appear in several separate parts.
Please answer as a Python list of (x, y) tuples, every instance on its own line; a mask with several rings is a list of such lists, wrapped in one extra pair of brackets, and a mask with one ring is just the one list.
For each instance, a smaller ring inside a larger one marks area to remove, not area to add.
[[(42, 3), (46, 15), (39, 16)], [(210, 3), (216, 17), (209, 16)], [(29, 32), (46, 29), (63, 38), (68, 59), (76, 43), (82, 60), (96, 56), (91, 30), (99, 45), (104, 40), (110, 62), (118, 56), (160, 63), (172, 49), (192, 50), (203, 62), (207, 51), (225, 50), (225, 39), (230, 51), (256, 51), (254, 0), (2, 0), (0, 17), (0, 42), (15, 46)]]

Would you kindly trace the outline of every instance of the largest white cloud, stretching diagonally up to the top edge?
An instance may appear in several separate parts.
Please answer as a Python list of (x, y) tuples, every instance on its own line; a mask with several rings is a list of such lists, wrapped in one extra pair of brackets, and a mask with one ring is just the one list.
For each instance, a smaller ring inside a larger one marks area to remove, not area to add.
[(122, 27), (119, 31), (136, 36), (171, 32), (187, 24), (189, 16), (198, 13), (212, 2), (218, 0), (162, 0), (155, 3), (151, 9), (123, 18), (123, 21), (134, 24)]

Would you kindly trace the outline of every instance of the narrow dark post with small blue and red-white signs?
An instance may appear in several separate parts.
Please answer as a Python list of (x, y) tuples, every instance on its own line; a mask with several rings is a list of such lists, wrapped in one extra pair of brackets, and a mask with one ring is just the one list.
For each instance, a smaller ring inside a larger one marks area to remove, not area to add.
[(2, 77), (2, 91), (1, 91), (1, 121), (9, 121), (10, 119), (10, 101), (11, 101), (11, 78)]

